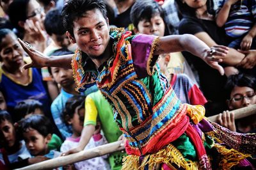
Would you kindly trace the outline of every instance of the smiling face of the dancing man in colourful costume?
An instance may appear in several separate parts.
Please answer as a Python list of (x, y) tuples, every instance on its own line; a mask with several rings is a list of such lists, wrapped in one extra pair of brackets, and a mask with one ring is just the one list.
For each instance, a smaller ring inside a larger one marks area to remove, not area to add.
[(74, 38), (68, 37), (90, 58), (97, 59), (109, 43), (108, 21), (99, 10), (90, 10), (74, 21)]

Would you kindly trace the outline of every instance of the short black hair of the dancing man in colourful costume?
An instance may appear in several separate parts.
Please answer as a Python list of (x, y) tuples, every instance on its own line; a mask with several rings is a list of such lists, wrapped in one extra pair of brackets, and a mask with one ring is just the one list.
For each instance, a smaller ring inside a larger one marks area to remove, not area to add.
[(65, 29), (74, 37), (74, 21), (84, 16), (90, 10), (100, 10), (104, 19), (107, 19), (107, 10), (102, 0), (70, 0), (62, 10), (63, 24)]

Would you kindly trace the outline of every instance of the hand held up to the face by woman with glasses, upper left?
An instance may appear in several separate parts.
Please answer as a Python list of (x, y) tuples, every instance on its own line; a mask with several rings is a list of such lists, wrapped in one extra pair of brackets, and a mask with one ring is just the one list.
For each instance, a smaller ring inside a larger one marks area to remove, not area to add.
[(33, 20), (26, 20), (24, 29), (26, 34), (23, 40), (34, 45), (40, 52), (43, 52), (46, 47), (47, 38), (40, 22), (36, 21), (34, 24)]

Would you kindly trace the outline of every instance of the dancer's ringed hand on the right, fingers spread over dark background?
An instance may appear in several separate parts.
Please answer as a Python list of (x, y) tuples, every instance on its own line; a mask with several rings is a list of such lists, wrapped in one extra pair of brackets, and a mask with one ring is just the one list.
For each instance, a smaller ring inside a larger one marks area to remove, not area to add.
[(219, 65), (223, 61), (223, 58), (228, 53), (228, 47), (223, 45), (213, 45), (210, 50), (206, 51), (204, 61), (212, 68), (218, 70), (221, 75), (224, 75), (224, 69)]

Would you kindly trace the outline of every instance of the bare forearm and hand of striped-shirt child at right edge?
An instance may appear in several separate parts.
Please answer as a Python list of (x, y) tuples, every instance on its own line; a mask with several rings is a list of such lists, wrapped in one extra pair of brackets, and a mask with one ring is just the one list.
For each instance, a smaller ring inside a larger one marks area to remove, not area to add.
[(252, 40), (256, 36), (256, 24), (248, 31), (246, 36), (244, 36), (240, 47), (242, 50), (250, 50), (251, 45), (252, 45)]

